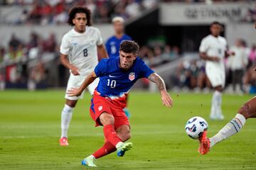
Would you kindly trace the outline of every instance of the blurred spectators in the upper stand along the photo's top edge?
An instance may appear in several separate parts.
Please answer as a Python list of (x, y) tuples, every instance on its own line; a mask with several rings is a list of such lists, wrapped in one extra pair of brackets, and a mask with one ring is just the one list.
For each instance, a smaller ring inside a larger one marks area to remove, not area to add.
[[(23, 11), (17, 13), (15, 21), (5, 21), (9, 24), (62, 24), (68, 20), (68, 10), (75, 5), (87, 6), (92, 11), (94, 23), (110, 23), (114, 16), (124, 19), (139, 16), (143, 11), (154, 8), (160, 0), (4, 0), (0, 5), (24, 6)], [(230, 2), (238, 0), (161, 0), (165, 2), (201, 2), (206, 4)], [(252, 0), (240, 0), (252, 2)], [(246, 21), (256, 21), (256, 6), (248, 8)]]

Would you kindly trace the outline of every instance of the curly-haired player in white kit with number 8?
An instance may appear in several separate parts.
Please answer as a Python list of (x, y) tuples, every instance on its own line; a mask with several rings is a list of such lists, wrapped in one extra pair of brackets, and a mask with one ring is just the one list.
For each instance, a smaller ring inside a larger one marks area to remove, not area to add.
[[(79, 87), (87, 74), (95, 69), (98, 63), (97, 51), (100, 52), (102, 58), (107, 57), (100, 30), (91, 26), (90, 10), (76, 6), (71, 8), (68, 15), (68, 24), (74, 28), (63, 36), (60, 45), (60, 62), (70, 69), (67, 91), (71, 87)], [(88, 86), (90, 94), (93, 94), (97, 83), (96, 79)], [(65, 95), (65, 106), (61, 113), (61, 137), (59, 140), (61, 146), (68, 146), (68, 127), (73, 115), (73, 108), (82, 96), (83, 93), (78, 97)]]

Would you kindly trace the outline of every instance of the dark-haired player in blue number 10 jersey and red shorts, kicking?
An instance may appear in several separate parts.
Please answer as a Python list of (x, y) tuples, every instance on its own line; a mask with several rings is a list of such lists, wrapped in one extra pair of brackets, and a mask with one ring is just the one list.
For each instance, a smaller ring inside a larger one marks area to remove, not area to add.
[(103, 59), (95, 71), (86, 77), (78, 89), (70, 89), (69, 96), (80, 96), (82, 91), (97, 77), (100, 82), (95, 89), (90, 106), (90, 115), (96, 125), (103, 126), (105, 144), (94, 154), (82, 160), (82, 165), (96, 166), (94, 160), (117, 150), (117, 156), (132, 148), (130, 126), (123, 108), (126, 106), (127, 94), (134, 83), (147, 78), (156, 83), (164, 106), (171, 107), (173, 100), (166, 91), (164, 80), (137, 57), (139, 45), (131, 40), (124, 40), (120, 45), (119, 57)]

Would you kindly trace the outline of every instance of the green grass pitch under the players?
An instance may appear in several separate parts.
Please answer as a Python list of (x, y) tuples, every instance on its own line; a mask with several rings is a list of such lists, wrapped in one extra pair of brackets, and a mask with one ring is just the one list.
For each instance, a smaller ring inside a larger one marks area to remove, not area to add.
[[(0, 92), (0, 169), (87, 169), (83, 158), (103, 144), (102, 128), (89, 115), (90, 96), (79, 101), (69, 130), (68, 147), (60, 147), (60, 112), (64, 91)], [(199, 115), (214, 135), (252, 96), (223, 95), (225, 120), (208, 119), (211, 94), (172, 94), (174, 107), (161, 106), (159, 94), (132, 91), (134, 147), (123, 158), (116, 153), (98, 159), (95, 169), (256, 169), (256, 120), (247, 120), (237, 135), (215, 145), (207, 155), (184, 131)]]

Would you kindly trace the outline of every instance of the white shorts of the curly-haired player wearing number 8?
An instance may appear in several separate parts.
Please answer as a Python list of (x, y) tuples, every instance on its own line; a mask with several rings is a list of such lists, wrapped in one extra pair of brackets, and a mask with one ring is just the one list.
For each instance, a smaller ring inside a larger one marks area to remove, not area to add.
[[(82, 94), (78, 97), (77, 96), (70, 97), (70, 96), (68, 96), (67, 92), (72, 87), (74, 87), (74, 88), (80, 87), (82, 85), (82, 82), (85, 81), (86, 77), (87, 77), (87, 75), (75, 76), (74, 74), (70, 73), (70, 77), (68, 79), (68, 86), (67, 86), (66, 93), (65, 93), (65, 98), (66, 99), (68, 99), (70, 101), (77, 101), (78, 99), (83, 98), (83, 96), (85, 94), (85, 91), (82, 91)], [(99, 78), (95, 79), (95, 81), (93, 81), (92, 84), (87, 86), (87, 89), (88, 89), (88, 91), (90, 92), (91, 95), (95, 91), (98, 83), (99, 83)]]

